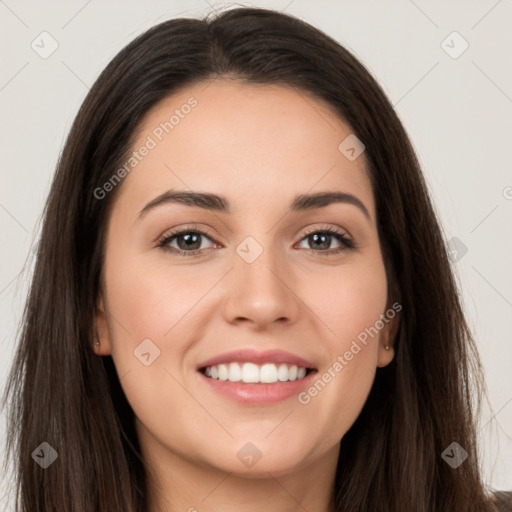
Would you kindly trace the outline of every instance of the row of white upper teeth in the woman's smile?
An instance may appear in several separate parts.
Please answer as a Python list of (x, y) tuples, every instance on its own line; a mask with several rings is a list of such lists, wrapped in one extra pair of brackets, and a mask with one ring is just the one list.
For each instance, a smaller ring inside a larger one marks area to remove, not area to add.
[(306, 368), (297, 365), (265, 363), (228, 363), (208, 366), (204, 374), (212, 379), (230, 382), (264, 383), (286, 382), (303, 379)]

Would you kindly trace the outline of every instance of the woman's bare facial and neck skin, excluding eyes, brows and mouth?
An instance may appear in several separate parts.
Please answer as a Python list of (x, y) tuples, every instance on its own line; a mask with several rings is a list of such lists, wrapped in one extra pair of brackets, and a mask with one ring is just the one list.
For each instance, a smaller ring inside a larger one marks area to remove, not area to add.
[[(328, 512), (340, 440), (377, 367), (394, 356), (384, 346), (395, 321), (306, 405), (297, 397), (268, 406), (232, 402), (195, 367), (234, 349), (279, 348), (313, 361), (321, 375), (385, 313), (388, 285), (365, 155), (350, 161), (338, 150), (352, 130), (321, 100), (228, 79), (188, 87), (154, 107), (134, 150), (191, 96), (197, 106), (116, 191), (94, 350), (112, 356), (135, 412), (154, 477), (151, 512), (252, 512), (268, 503), (276, 511), (300, 503)], [(138, 219), (169, 189), (224, 195), (232, 213), (168, 203)], [(320, 191), (353, 194), (370, 219), (345, 203), (288, 210), (297, 194)], [(212, 235), (201, 239), (202, 254), (156, 246), (172, 228), (190, 224)], [(335, 253), (342, 244), (334, 237), (328, 249), (315, 248), (304, 232), (316, 227), (337, 228), (356, 248)], [(247, 236), (263, 248), (250, 264), (236, 252)], [(147, 338), (160, 350), (149, 366), (133, 353)], [(250, 468), (237, 457), (248, 442), (262, 454)]]

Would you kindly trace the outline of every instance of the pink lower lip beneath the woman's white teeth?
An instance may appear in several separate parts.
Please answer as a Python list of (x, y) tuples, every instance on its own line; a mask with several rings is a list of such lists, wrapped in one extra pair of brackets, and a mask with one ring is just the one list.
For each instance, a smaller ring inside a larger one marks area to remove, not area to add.
[(278, 381), (272, 384), (222, 381), (206, 377), (201, 372), (197, 373), (213, 391), (235, 402), (245, 405), (271, 405), (297, 396), (310, 385), (317, 372), (313, 370), (300, 380)]

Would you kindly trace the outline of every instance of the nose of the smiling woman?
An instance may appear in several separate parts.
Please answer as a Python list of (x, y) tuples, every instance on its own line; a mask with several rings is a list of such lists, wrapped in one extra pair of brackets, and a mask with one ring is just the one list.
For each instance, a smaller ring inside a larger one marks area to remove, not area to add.
[(297, 321), (300, 299), (293, 290), (293, 276), (275, 251), (265, 248), (252, 263), (235, 254), (234, 268), (227, 277), (223, 308), (227, 322), (262, 330)]

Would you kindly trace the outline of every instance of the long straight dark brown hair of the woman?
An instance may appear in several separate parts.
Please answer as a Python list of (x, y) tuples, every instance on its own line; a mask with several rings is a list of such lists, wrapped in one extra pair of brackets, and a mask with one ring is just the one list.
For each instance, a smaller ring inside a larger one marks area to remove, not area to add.
[[(74, 121), (44, 212), (5, 403), (20, 512), (145, 512), (148, 472), (109, 356), (92, 350), (105, 226), (148, 110), (218, 76), (284, 84), (325, 100), (366, 146), (390, 301), (403, 307), (393, 362), (379, 368), (341, 440), (336, 510), (496, 510), (476, 445), (483, 376), (439, 222), (392, 105), (336, 41), (292, 16), (237, 8), (151, 28), (109, 63)], [(45, 470), (31, 454), (58, 453)], [(457, 442), (457, 468), (442, 453)]]

